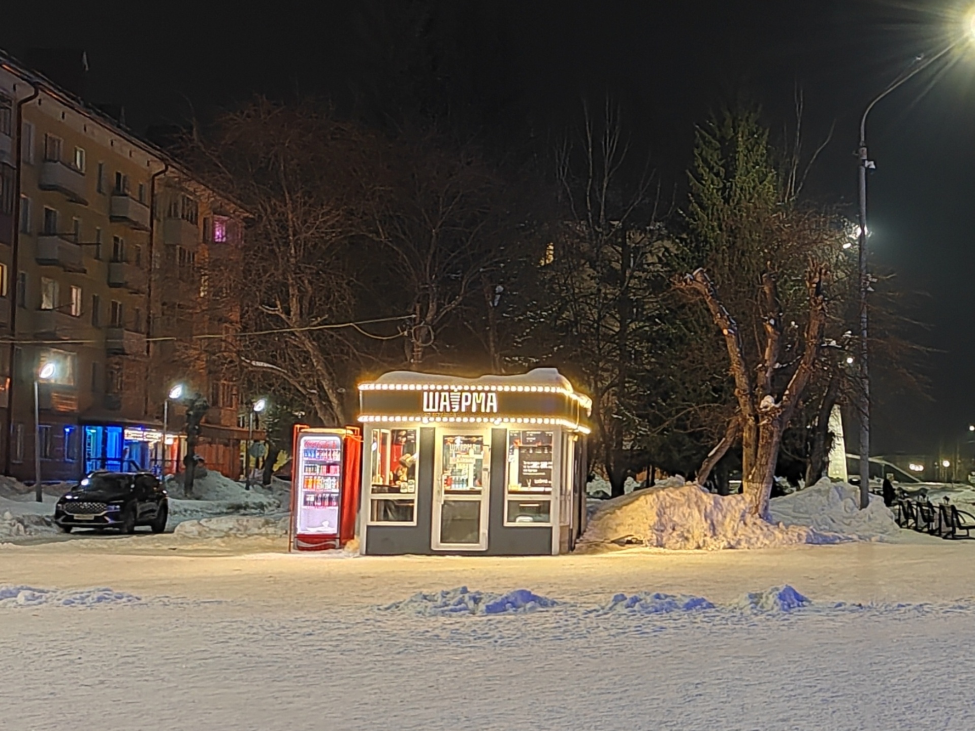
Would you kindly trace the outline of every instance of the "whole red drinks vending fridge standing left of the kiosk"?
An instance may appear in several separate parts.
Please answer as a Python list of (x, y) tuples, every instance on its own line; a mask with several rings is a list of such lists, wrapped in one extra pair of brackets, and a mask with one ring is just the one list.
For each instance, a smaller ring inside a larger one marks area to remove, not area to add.
[(289, 551), (344, 546), (356, 531), (362, 432), (294, 427)]

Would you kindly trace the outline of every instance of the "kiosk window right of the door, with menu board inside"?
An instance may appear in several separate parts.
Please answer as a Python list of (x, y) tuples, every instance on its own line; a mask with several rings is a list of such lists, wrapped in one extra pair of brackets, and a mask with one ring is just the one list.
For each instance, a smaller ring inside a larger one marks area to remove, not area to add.
[(552, 523), (554, 432), (508, 432), (506, 525)]

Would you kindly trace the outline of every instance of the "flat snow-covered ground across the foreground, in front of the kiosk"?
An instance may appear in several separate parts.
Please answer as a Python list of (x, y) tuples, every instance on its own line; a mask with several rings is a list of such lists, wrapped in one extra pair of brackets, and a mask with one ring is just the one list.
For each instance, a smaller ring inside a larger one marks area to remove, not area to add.
[[(956, 601), (975, 595), (972, 544), (512, 559), (283, 556), (273, 547), (139, 536), (0, 548), (0, 585), (110, 586), (145, 599), (0, 607), (3, 726), (975, 726), (975, 603)], [(617, 592), (726, 603), (784, 583), (813, 608), (586, 613)], [(461, 584), (526, 587), (567, 603), (495, 617), (374, 609)], [(878, 603), (826, 606), (834, 601)]]

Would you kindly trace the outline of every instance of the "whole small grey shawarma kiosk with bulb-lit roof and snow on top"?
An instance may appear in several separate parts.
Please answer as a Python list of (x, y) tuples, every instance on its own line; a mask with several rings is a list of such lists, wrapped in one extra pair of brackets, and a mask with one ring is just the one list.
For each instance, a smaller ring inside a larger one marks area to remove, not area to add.
[(589, 397), (555, 368), (359, 386), (360, 551), (542, 556), (585, 528)]

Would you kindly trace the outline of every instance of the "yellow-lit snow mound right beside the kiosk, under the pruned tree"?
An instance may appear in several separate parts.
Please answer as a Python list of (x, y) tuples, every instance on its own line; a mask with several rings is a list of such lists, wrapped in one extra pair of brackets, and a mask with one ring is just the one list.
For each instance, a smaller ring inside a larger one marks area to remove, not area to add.
[(687, 483), (637, 490), (604, 501), (589, 519), (586, 544), (671, 550), (766, 548), (837, 543), (842, 536), (803, 525), (773, 525), (749, 512), (744, 495), (714, 495)]

